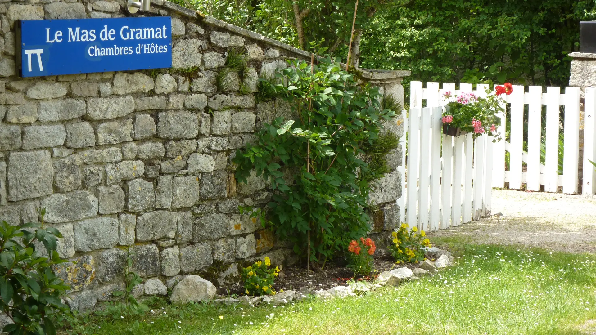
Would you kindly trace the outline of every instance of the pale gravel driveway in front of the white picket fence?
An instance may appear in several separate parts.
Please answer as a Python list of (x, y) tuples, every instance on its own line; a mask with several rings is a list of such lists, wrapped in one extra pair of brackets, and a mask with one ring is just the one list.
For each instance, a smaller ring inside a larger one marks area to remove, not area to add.
[(462, 235), (477, 243), (520, 244), (596, 253), (596, 196), (492, 191), (491, 216), (431, 236)]

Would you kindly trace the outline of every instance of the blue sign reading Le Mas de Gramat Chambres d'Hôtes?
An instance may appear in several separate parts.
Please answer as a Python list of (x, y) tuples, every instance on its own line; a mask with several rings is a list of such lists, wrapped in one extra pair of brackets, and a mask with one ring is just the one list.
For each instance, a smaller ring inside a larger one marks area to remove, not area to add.
[(17, 21), (21, 77), (172, 67), (172, 18)]

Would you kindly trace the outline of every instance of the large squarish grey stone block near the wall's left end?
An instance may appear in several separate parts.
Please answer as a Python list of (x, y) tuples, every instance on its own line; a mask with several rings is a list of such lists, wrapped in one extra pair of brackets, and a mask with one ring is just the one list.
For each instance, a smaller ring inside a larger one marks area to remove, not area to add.
[(52, 194), (54, 166), (49, 151), (8, 154), (8, 201)]

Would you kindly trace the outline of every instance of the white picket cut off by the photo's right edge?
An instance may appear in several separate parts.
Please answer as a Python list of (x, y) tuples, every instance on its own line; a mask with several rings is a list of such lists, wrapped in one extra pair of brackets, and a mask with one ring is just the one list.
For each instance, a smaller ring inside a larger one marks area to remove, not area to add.
[(583, 173), (582, 193), (596, 194), (596, 88), (588, 87), (583, 106)]

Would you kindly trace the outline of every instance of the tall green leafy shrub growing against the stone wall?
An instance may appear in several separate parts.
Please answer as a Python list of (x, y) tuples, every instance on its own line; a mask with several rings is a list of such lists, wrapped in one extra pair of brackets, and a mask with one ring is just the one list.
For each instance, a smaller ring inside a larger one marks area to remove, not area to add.
[(254, 144), (238, 150), (235, 177), (247, 183), (254, 170), (268, 179), (275, 192), (267, 224), (294, 244), (294, 252), (324, 265), (370, 231), (370, 168), (363, 148), (379, 138), (381, 122), (395, 111), (381, 108), (378, 88), (343, 71), (339, 60), (290, 65), (275, 83), (260, 86), (267, 86), (268, 97), (275, 91), (287, 100), (297, 117), (265, 124)]

